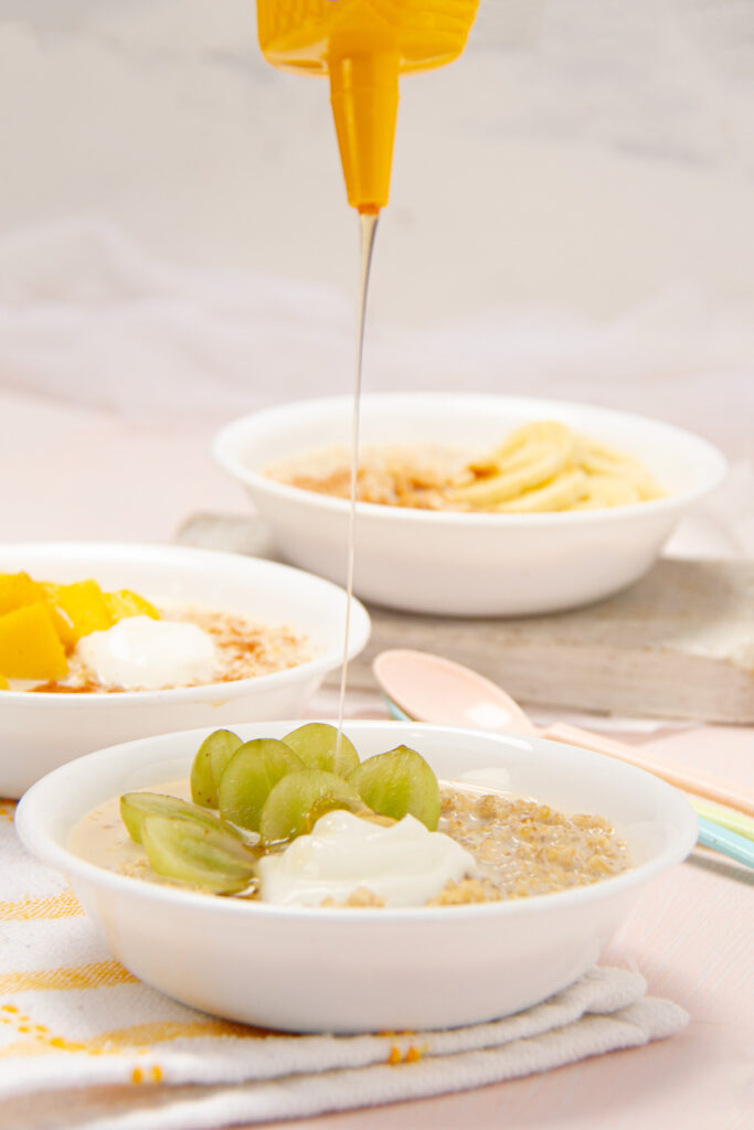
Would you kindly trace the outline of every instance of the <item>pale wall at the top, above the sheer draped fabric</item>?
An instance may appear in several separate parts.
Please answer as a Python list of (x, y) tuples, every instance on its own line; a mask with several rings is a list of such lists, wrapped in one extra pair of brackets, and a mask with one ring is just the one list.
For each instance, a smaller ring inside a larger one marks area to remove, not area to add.
[[(0, 0), (0, 224), (104, 215), (187, 263), (348, 288), (326, 85), (268, 68), (252, 0)], [(375, 308), (669, 286), (754, 305), (751, 0), (482, 0), (404, 82)], [(406, 299), (409, 299), (407, 302)]]

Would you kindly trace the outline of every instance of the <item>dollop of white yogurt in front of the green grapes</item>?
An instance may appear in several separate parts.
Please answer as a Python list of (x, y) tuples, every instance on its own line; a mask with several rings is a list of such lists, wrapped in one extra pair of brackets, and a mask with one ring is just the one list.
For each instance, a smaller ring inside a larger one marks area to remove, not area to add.
[(423, 906), (448, 883), (478, 876), (474, 857), (413, 816), (389, 827), (337, 809), (309, 835), (258, 863), (263, 902), (319, 906), (345, 903), (366, 887), (387, 906)]

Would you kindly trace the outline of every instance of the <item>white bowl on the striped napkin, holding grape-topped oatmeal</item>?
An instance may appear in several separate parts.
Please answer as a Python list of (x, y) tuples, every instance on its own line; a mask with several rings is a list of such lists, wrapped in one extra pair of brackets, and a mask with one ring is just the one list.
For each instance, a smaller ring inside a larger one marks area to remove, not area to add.
[[(291, 722), (237, 728), (281, 737)], [(349, 722), (362, 757), (406, 742), (439, 776), (501, 768), (513, 792), (607, 816), (634, 867), (511, 902), (410, 910), (272, 906), (145, 883), (72, 855), (71, 827), (130, 789), (188, 775), (206, 731), (133, 741), (71, 762), (21, 800), (18, 832), (70, 880), (115, 957), (188, 1005), (301, 1032), (473, 1024), (543, 1000), (599, 957), (642, 887), (696, 837), (684, 797), (614, 758), (541, 739), (401, 722)], [(497, 786), (500, 781), (497, 780)]]

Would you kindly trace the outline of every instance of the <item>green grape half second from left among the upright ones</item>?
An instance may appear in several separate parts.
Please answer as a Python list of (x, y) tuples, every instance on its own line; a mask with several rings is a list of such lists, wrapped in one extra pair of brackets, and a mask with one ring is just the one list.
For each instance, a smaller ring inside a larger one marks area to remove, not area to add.
[(246, 741), (225, 766), (217, 790), (224, 820), (259, 831), (259, 818), (271, 789), (286, 773), (304, 770), (301, 757), (284, 741), (258, 738)]

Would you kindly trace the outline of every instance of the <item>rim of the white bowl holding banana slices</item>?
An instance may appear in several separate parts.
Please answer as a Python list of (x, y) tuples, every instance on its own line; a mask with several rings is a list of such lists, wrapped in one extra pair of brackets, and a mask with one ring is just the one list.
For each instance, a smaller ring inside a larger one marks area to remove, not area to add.
[[(462, 402), (465, 405), (478, 403), (480, 410), (484, 409), (485, 403), (497, 406), (510, 405), (513, 409), (526, 411), (531, 408), (532, 414), (543, 411), (552, 416), (557, 416), (558, 411), (562, 410), (583, 410), (606, 417), (613, 417), (616, 421), (623, 419), (636, 425), (651, 424), (655, 428), (666, 429), (668, 434), (673, 434), (676, 438), (681, 438), (683, 442), (688, 443), (690, 446), (696, 446), (700, 454), (704, 455), (710, 466), (709, 479), (694, 488), (675, 490), (673, 494), (664, 495), (661, 498), (649, 498), (644, 502), (626, 503), (623, 506), (606, 506), (603, 508), (579, 511), (547, 511), (545, 513), (534, 514), (419, 510), (418, 507), (410, 506), (385, 506), (380, 503), (358, 502), (356, 504), (356, 508), (359, 513), (365, 515), (369, 514), (370, 519), (383, 522), (418, 521), (435, 525), (452, 525), (460, 521), (465, 528), (468, 528), (469, 525), (502, 525), (525, 527), (531, 529), (540, 525), (551, 525), (553, 523), (557, 525), (570, 524), (589, 527), (600, 522), (621, 522), (626, 521), (632, 516), (649, 516), (676, 511), (677, 508), (686, 506), (690, 503), (695, 502), (697, 498), (708, 495), (722, 483), (728, 473), (728, 460), (722, 452), (714, 446), (714, 444), (710, 443), (709, 440), (704, 440), (694, 432), (688, 432), (686, 428), (678, 427), (675, 424), (668, 424), (665, 420), (655, 419), (650, 416), (642, 416), (638, 412), (625, 412), (621, 409), (603, 408), (601, 405), (588, 405), (575, 400), (539, 399), (535, 397), (494, 397), (453, 392), (384, 392), (366, 393), (362, 395), (362, 406), (369, 408), (370, 405), (381, 403), (389, 407), (390, 401), (393, 401), (396, 406), (400, 403), (406, 405), (410, 401), (419, 405), (422, 399), (435, 407), (437, 403), (442, 402), (452, 407), (452, 401), (456, 401), (457, 403)], [(336, 513), (346, 512), (350, 505), (347, 498), (336, 498), (332, 495), (318, 494), (313, 490), (303, 490), (301, 487), (288, 486), (285, 483), (277, 483), (275, 479), (270, 479), (266, 475), (245, 467), (234, 453), (228, 453), (226, 449), (234, 444), (235, 441), (244, 434), (244, 432), (250, 427), (252, 420), (260, 423), (265, 418), (284, 418), (292, 411), (304, 412), (310, 408), (341, 408), (349, 403), (353, 403), (350, 397), (320, 397), (311, 398), (309, 400), (295, 400), (286, 405), (277, 405), (272, 408), (265, 408), (258, 412), (248, 412), (246, 415), (232, 420), (229, 424), (226, 424), (225, 427), (217, 433), (213, 442), (213, 455), (227, 473), (233, 476), (235, 479), (239, 479), (245, 486), (261, 490), (272, 498), (280, 498), (288, 502), (297, 501), (301, 503), (302, 497), (305, 497), (307, 505), (333, 511)], [(532, 415), (532, 418), (536, 418), (536, 416)]]

